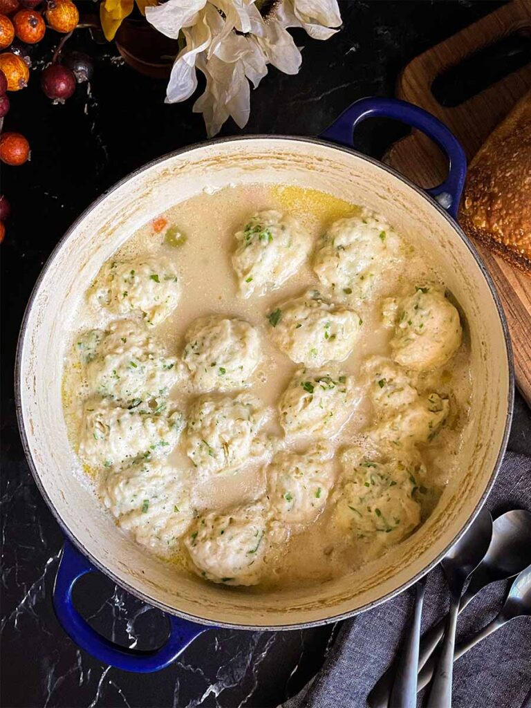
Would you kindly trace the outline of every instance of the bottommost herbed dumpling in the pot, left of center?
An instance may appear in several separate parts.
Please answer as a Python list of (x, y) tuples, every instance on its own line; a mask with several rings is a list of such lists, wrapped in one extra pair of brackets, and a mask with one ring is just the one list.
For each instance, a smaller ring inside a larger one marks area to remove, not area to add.
[(196, 573), (215, 583), (256, 585), (269, 547), (263, 505), (199, 516), (184, 538)]

